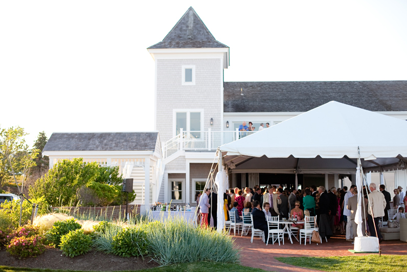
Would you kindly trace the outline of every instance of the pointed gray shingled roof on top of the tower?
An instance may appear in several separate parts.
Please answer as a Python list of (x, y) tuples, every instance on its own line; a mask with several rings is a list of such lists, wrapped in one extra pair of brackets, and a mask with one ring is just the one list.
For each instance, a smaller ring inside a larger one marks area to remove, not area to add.
[(167, 48), (228, 48), (219, 43), (190, 7), (165, 38), (147, 49)]

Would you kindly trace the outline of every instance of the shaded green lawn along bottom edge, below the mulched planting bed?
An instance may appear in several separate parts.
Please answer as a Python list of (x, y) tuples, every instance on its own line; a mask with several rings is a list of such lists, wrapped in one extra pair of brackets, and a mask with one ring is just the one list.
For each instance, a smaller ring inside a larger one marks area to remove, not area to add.
[[(52, 270), (52, 269), (39, 269), (39, 268), (19, 268), (19, 267), (8, 267), (0, 266), (0, 272), (26, 272), (26, 271), (37, 271), (37, 272), (84, 272), (84, 271), (72, 271), (72, 270)], [(242, 266), (239, 264), (231, 263), (217, 263), (217, 262), (198, 262), (198, 263), (183, 263), (183, 264), (173, 264), (167, 266), (160, 266), (150, 269), (137, 270), (138, 272), (223, 272), (223, 271), (234, 271), (234, 272), (261, 272), (265, 271), (259, 268), (252, 268), (247, 266)], [(126, 271), (121, 271), (126, 272)]]

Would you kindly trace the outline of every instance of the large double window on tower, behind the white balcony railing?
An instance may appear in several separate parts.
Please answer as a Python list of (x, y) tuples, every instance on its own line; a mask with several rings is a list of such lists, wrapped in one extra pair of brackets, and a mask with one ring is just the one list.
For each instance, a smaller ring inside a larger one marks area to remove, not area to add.
[(174, 110), (175, 135), (178, 135), (183, 129), (183, 131), (191, 132), (188, 137), (200, 139), (201, 133), (199, 131), (203, 131), (202, 118), (203, 110)]

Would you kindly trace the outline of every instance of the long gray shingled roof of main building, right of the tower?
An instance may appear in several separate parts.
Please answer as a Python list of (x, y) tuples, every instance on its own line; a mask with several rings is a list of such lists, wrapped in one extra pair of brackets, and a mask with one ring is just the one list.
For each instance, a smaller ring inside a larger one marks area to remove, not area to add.
[(406, 80), (224, 82), (223, 88), (224, 112), (306, 112), (332, 100), (369, 111), (407, 111)]

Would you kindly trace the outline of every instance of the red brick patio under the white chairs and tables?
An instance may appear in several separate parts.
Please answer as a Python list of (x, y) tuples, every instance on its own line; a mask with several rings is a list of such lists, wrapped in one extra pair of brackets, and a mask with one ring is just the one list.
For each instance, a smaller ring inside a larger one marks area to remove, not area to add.
[[(353, 249), (353, 244), (346, 242), (344, 235), (335, 235), (328, 239), (328, 243), (322, 244), (301, 244), (297, 240), (290, 243), (288, 238), (284, 238), (284, 245), (278, 243), (268, 244), (267, 246), (258, 237), (250, 242), (250, 236), (235, 236), (236, 244), (242, 247), (241, 263), (242, 265), (261, 268), (268, 271), (286, 272), (286, 271), (319, 271), (298, 266), (288, 265), (279, 262), (275, 257), (329, 257), (329, 256), (355, 256), (348, 251)], [(383, 241), (380, 244), (381, 254), (407, 255), (407, 244), (401, 241)], [(356, 254), (361, 256), (366, 254)]]

